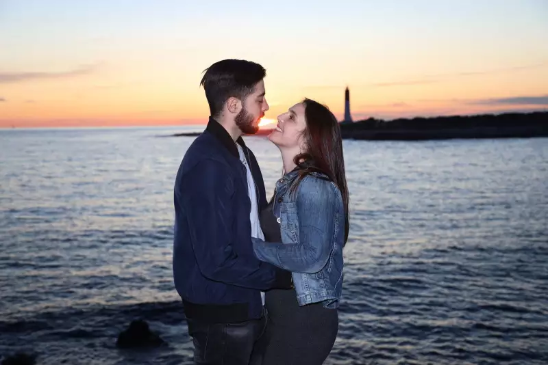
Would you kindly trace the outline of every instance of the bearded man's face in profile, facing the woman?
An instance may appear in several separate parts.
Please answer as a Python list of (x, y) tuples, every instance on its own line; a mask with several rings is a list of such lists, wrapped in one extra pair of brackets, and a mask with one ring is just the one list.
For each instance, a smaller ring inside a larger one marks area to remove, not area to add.
[(264, 112), (269, 110), (264, 96), (264, 81), (259, 81), (253, 87), (253, 92), (242, 102), (242, 109), (234, 118), (240, 131), (245, 134), (255, 134), (259, 130), (259, 121), (264, 117)]

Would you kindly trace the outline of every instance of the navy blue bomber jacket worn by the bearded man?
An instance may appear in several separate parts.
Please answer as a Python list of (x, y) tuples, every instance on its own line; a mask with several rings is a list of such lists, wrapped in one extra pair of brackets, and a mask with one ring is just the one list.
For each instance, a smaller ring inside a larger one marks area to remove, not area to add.
[[(246, 152), (258, 207), (266, 206), (255, 156)], [(173, 279), (189, 319), (241, 322), (262, 316), (261, 290), (289, 288), (291, 273), (253, 254), (245, 166), (227, 131), (210, 118), (179, 166), (174, 187)]]

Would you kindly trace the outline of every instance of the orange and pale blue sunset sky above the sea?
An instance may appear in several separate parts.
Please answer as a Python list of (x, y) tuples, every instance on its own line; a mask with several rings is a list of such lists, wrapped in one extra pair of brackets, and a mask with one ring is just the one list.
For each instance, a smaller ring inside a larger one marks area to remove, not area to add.
[(0, 0), (0, 127), (201, 124), (202, 72), (266, 68), (354, 120), (548, 109), (548, 1)]

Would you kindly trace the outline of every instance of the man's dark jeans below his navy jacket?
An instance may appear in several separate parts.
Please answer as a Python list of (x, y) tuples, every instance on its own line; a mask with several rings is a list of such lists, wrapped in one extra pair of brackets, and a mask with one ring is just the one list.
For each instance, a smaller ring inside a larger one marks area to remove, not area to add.
[[(264, 349), (256, 342), (266, 329), (266, 309), (261, 319), (240, 323), (203, 323), (187, 319), (194, 344), (194, 362), (202, 365), (260, 365)], [(255, 351), (253, 351), (255, 350)]]

